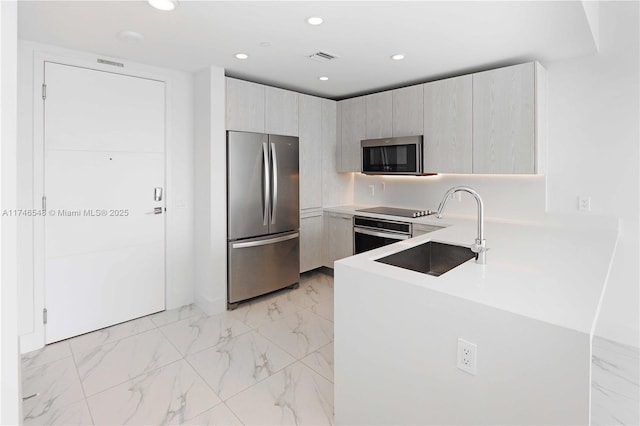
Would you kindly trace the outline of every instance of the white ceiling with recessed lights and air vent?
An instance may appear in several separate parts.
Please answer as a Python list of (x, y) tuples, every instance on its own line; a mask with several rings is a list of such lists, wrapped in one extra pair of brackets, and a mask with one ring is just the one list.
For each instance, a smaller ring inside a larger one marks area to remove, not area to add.
[[(311, 26), (310, 16), (324, 23)], [(117, 36), (137, 31), (133, 43)], [(529, 60), (596, 52), (580, 1), (21, 1), (19, 37), (333, 99)], [(269, 42), (269, 47), (262, 47)], [(328, 63), (307, 57), (318, 50)], [(250, 55), (240, 61), (237, 52)], [(390, 56), (404, 53), (403, 61)], [(328, 76), (329, 81), (318, 80)]]

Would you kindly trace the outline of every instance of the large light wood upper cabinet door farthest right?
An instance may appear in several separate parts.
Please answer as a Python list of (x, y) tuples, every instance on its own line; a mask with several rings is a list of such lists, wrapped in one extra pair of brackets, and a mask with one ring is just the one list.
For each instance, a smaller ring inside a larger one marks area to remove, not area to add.
[(473, 172), (535, 173), (535, 64), (473, 74)]

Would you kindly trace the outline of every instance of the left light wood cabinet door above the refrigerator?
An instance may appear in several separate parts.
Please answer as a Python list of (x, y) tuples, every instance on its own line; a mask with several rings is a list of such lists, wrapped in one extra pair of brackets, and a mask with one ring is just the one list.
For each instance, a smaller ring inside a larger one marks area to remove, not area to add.
[(265, 86), (227, 78), (227, 130), (265, 132)]

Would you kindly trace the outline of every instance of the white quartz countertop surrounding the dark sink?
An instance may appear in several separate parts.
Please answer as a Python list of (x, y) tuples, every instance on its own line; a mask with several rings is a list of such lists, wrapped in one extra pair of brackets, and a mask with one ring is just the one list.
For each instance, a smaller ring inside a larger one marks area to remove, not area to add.
[(431, 240), (469, 247), (477, 234), (475, 217), (445, 213), (442, 219), (400, 219), (355, 211), (365, 207), (369, 206), (337, 206), (324, 211), (446, 228), (339, 260), (340, 264), (553, 325), (592, 332), (616, 246), (615, 218), (549, 216), (538, 222), (485, 219), (489, 249), (486, 265), (472, 259), (434, 277), (375, 259)]

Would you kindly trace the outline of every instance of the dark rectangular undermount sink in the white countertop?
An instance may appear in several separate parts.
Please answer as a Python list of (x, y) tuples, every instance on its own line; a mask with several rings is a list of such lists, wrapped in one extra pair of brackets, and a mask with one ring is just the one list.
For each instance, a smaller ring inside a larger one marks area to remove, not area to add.
[(475, 256), (468, 247), (429, 241), (376, 259), (376, 262), (439, 277)]

